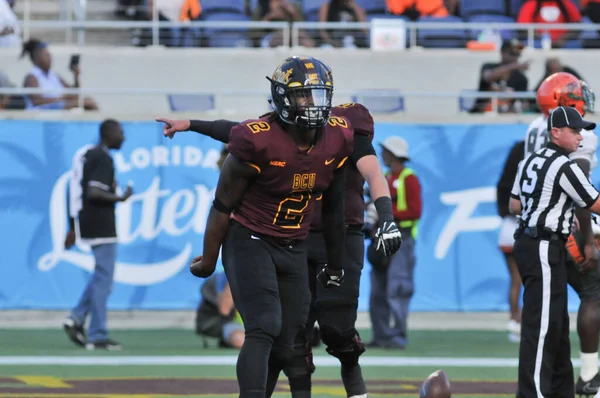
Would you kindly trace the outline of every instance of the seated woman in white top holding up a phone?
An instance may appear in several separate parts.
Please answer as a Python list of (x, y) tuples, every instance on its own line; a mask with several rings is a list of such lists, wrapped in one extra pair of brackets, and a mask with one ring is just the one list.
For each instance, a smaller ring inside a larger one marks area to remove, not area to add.
[[(51, 69), (52, 57), (48, 51), (48, 44), (37, 39), (30, 39), (23, 44), (21, 58), (29, 54), (33, 68), (25, 77), (23, 87), (41, 88), (44, 94), (29, 94), (25, 96), (26, 109), (72, 109), (79, 107), (79, 96), (76, 94), (63, 94), (64, 88), (79, 87), (79, 66), (74, 66), (74, 83), (72, 86)], [(84, 98), (83, 108), (86, 111), (98, 110), (96, 102), (91, 98)]]

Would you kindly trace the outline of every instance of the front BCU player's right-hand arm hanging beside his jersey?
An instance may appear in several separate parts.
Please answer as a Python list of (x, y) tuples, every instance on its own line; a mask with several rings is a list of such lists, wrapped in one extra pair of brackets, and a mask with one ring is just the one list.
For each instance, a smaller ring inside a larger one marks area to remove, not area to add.
[[(335, 171), (331, 185), (323, 192), (323, 237), (327, 248), (327, 267), (319, 279), (326, 287), (339, 286), (343, 276), (343, 258), (346, 245), (344, 218), (345, 169)], [(336, 278), (340, 278), (339, 281)]]

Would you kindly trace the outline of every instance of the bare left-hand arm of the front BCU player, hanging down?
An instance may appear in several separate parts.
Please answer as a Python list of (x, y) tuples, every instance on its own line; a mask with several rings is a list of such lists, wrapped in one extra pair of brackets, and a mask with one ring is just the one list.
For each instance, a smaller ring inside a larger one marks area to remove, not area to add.
[(207, 278), (215, 271), (221, 245), (229, 230), (231, 212), (239, 205), (248, 185), (257, 171), (233, 155), (228, 155), (221, 168), (215, 200), (210, 208), (204, 231), (202, 256), (196, 257), (190, 266), (192, 274)]

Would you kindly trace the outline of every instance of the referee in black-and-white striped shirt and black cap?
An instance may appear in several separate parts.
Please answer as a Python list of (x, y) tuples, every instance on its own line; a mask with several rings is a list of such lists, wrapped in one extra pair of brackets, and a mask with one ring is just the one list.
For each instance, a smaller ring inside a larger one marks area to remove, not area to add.
[(521, 215), (514, 255), (523, 280), (523, 312), (517, 397), (575, 396), (565, 243), (574, 207), (600, 213), (599, 193), (568, 155), (580, 145), (582, 129), (595, 123), (571, 107), (548, 118), (550, 142), (519, 166), (509, 209)]

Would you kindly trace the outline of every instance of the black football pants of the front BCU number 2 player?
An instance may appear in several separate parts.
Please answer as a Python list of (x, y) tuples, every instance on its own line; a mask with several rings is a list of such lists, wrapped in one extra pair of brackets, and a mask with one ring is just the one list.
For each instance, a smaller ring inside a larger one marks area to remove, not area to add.
[(246, 338), (237, 362), (240, 398), (265, 398), (267, 379), (294, 358), (310, 305), (306, 243), (256, 234), (232, 221), (223, 266)]

